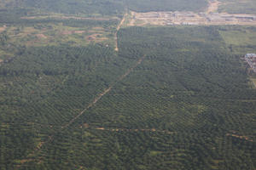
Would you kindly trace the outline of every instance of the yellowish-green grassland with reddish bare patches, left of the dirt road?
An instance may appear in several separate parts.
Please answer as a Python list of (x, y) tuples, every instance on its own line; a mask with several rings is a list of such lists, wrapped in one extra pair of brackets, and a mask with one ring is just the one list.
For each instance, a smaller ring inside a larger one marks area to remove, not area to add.
[[(57, 46), (66, 43), (71, 46), (86, 46), (90, 42), (111, 43), (111, 30), (103, 27), (72, 27), (59, 24), (38, 24), (34, 26), (11, 26), (6, 28), (10, 43), (26, 46)], [(113, 43), (113, 42), (112, 42)], [(109, 44), (110, 45), (110, 44)]]

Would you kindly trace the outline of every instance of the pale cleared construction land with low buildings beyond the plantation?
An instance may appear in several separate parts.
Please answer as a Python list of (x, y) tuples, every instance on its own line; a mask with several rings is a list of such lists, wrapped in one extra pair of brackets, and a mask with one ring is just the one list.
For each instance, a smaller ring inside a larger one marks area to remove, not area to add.
[(248, 25), (256, 26), (255, 14), (215, 13), (220, 2), (210, 1), (205, 12), (164, 11), (137, 13), (131, 12), (131, 20), (127, 26), (145, 25)]

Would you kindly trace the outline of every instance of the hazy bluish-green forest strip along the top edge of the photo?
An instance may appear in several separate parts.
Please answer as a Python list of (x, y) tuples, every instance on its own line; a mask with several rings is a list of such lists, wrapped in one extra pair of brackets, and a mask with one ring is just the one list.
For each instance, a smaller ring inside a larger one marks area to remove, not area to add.
[[(69, 0), (10, 0), (2, 4), (4, 8), (13, 9), (13, 12), (22, 11), (23, 14), (55, 12), (61, 14), (116, 15), (123, 14), (127, 7), (137, 12), (156, 10), (199, 11), (207, 7), (207, 0), (161, 0), (160, 2), (152, 0), (75, 0), (72, 2)], [(8, 11), (10, 12), (10, 10)]]

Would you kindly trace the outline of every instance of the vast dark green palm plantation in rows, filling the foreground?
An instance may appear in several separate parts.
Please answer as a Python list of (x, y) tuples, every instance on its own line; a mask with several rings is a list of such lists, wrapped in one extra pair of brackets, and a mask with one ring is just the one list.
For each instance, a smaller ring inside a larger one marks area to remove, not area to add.
[(253, 170), (256, 91), (218, 27), (118, 37), (118, 54), (26, 48), (1, 66), (2, 169)]

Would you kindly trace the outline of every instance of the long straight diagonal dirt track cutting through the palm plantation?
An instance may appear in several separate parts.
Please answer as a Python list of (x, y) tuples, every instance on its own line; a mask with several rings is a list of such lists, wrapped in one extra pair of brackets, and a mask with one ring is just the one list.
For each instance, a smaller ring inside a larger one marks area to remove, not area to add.
[[(96, 103), (102, 99), (102, 97), (106, 94), (108, 94), (111, 89), (113, 88), (113, 86), (122, 81), (125, 77), (127, 77), (131, 71), (133, 71), (137, 65), (140, 65), (142, 62), (143, 62), (143, 59), (145, 59), (145, 55), (143, 55), (143, 57), (141, 57), (140, 59), (137, 60), (136, 64), (133, 65), (130, 69), (128, 69), (124, 75), (122, 75), (121, 77), (119, 77), (118, 81), (117, 82), (114, 82), (112, 85), (110, 85), (107, 89), (105, 89), (101, 94), (99, 94), (95, 99), (93, 99), (93, 102), (91, 102), (86, 108), (84, 108), (83, 111), (81, 111), (77, 116), (74, 116), (73, 119), (69, 122), (67, 122), (65, 125), (63, 125), (61, 127), (62, 130), (64, 130), (65, 128), (69, 127), (73, 122), (75, 122), (80, 116), (82, 116), (84, 114), (85, 111), (87, 111), (88, 109), (90, 109), (93, 105), (96, 105)], [(28, 156), (26, 156), (26, 158), (32, 156), (35, 154), (35, 152), (39, 151), (42, 149), (42, 147), (45, 145), (45, 144), (48, 144), (49, 142), (51, 142), (53, 139), (54, 139), (55, 135), (52, 134), (52, 135), (49, 135), (48, 139), (45, 141), (45, 142), (41, 142), (40, 144), (38, 144), (38, 146), (36, 147), (35, 150), (32, 151), (32, 153), (30, 153)], [(34, 161), (33, 159), (27, 159), (29, 161)], [(42, 157), (39, 157), (37, 159), (37, 162), (40, 162), (40, 160), (42, 160)], [(22, 166), (22, 164), (21, 164)], [(21, 167), (20, 165), (18, 165), (16, 168), (20, 168)]]

